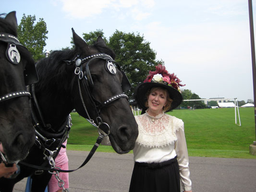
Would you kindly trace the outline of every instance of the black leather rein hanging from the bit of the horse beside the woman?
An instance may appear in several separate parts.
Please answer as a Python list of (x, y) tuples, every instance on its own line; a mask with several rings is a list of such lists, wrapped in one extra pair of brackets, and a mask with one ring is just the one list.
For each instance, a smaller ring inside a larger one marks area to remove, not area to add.
[(51, 172), (58, 171), (58, 172), (70, 173), (70, 172), (76, 171), (79, 168), (84, 167), (85, 164), (88, 163), (88, 161), (92, 158), (92, 156), (94, 155), (95, 151), (97, 150), (99, 144), (102, 142), (103, 138), (104, 138), (103, 134), (100, 134), (98, 136), (98, 139), (97, 139), (96, 143), (94, 144), (94, 146), (91, 149), (90, 153), (86, 157), (85, 161), (82, 163), (82, 165), (80, 167), (78, 167), (76, 169), (62, 170), (62, 169), (56, 169), (56, 168), (46, 168), (46, 167), (41, 167), (41, 166), (36, 166), (36, 165), (29, 164), (29, 163), (25, 163), (25, 162), (22, 162), (22, 161), (20, 161), (18, 164), (22, 164), (22, 165), (30, 167), (30, 168), (36, 168), (36, 169), (40, 169), (40, 170), (47, 170), (47, 171), (51, 171)]

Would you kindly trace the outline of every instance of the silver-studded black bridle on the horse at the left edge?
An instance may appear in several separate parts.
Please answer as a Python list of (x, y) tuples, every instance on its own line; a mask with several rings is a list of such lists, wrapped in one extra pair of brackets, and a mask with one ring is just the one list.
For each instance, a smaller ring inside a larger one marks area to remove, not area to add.
[[(7, 33), (0, 33), (0, 41), (8, 43), (5, 52), (7, 60), (14, 65), (18, 65), (20, 63), (21, 56), (16, 46), (24, 46), (20, 44), (20, 41), (16, 36), (12, 36)], [(34, 84), (38, 81), (38, 76), (34, 63), (28, 63), (28, 66), (25, 68), (24, 80), (26, 85)], [(30, 98), (31, 94), (26, 90), (19, 90), (12, 93), (8, 93), (3, 96), (0, 96), (0, 103), (18, 96), (28, 96)]]

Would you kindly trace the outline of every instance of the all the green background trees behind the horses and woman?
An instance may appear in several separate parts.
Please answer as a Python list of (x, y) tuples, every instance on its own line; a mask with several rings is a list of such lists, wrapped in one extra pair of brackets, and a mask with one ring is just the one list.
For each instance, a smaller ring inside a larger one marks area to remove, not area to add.
[[(39, 18), (36, 23), (36, 16), (25, 15), (21, 19), (21, 22), (17, 29), (18, 38), (32, 54), (35, 61), (45, 57), (44, 47), (46, 46), (47, 24), (43, 18)], [(148, 71), (154, 71), (155, 66), (158, 64), (164, 65), (163, 60), (157, 60), (157, 52), (150, 48), (150, 42), (146, 41), (143, 35), (134, 33), (124, 33), (116, 30), (112, 36), (107, 38), (104, 36), (102, 29), (91, 31), (89, 33), (83, 33), (82, 38), (88, 45), (92, 45), (96, 41), (97, 37), (101, 36), (106, 42), (107, 46), (112, 48), (116, 53), (115, 61), (117, 61), (122, 70), (126, 73), (130, 83), (132, 85), (131, 90), (126, 94), (133, 101), (133, 93), (135, 87), (138, 84), (143, 83), (146, 79)], [(73, 48), (73, 39), (71, 37), (71, 47), (62, 49)], [(183, 89), (182, 96), (184, 100), (187, 99), (200, 99), (198, 95), (192, 93), (191, 90)], [(252, 102), (248, 100), (247, 102)], [(217, 106), (217, 102), (209, 102), (210, 106)], [(244, 101), (238, 101), (238, 105), (244, 105)], [(207, 106), (202, 101), (184, 101), (181, 104), (181, 108), (195, 107), (206, 108)]]

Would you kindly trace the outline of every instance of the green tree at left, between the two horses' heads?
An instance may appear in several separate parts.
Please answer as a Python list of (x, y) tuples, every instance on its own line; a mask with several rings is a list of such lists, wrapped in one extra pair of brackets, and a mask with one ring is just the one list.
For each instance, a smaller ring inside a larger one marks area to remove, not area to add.
[(32, 54), (34, 60), (44, 58), (43, 49), (46, 46), (46, 35), (48, 34), (47, 26), (44, 19), (39, 18), (39, 22), (35, 24), (36, 16), (25, 16), (21, 19), (18, 26), (18, 38), (20, 43), (24, 45)]

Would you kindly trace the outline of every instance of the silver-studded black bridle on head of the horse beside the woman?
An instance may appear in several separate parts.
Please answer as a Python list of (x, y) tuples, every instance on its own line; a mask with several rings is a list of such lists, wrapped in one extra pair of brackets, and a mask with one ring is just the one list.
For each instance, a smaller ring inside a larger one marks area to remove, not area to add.
[[(101, 116), (100, 116), (100, 109), (103, 107), (106, 107), (113, 101), (115, 101), (119, 98), (122, 98), (122, 97), (125, 97), (128, 100), (128, 96), (123, 93), (119, 93), (114, 96), (111, 96), (110, 98), (108, 98), (106, 101), (103, 101), (103, 102), (99, 102), (94, 98), (94, 96), (92, 95), (92, 89), (93, 89), (94, 83), (92, 81), (89, 65), (92, 62), (92, 60), (95, 60), (95, 59), (106, 60), (105, 68), (106, 68), (107, 72), (109, 72), (112, 75), (116, 74), (116, 67), (117, 67), (117, 70), (122, 72), (122, 75), (123, 75), (122, 91), (123, 92), (129, 90), (131, 88), (131, 84), (130, 84), (128, 78), (126, 77), (125, 73), (123, 71), (121, 71), (120, 65), (115, 60), (113, 60), (109, 55), (107, 55), (105, 53), (98, 53), (98, 54), (90, 55), (82, 60), (79, 59), (79, 56), (77, 56), (74, 60), (65, 61), (68, 65), (71, 65), (71, 64), (75, 65), (74, 73), (76, 75), (78, 75), (77, 81), (78, 81), (79, 94), (80, 94), (80, 98), (81, 98), (83, 107), (85, 109), (86, 115), (88, 117), (88, 119), (86, 119), (86, 120), (88, 120), (92, 125), (98, 127), (98, 129), (101, 129), (102, 131), (104, 131), (106, 133), (106, 135), (109, 135), (110, 134), (110, 126), (107, 123), (102, 121)], [(85, 63), (85, 70), (83, 71), (84, 63)], [(113, 63), (115, 63), (116, 67), (114, 66)], [(86, 94), (85, 97), (83, 97), (83, 95), (82, 95), (81, 83), (82, 83), (82, 88), (85, 90), (85, 94)], [(88, 98), (90, 100), (90, 103), (92, 104), (94, 111), (96, 112), (96, 114), (98, 116), (96, 118), (96, 121), (97, 121), (96, 123), (94, 122), (94, 120), (91, 119), (91, 117), (87, 111), (87, 108), (85, 106), (85, 102), (84, 102), (83, 98)], [(106, 127), (108, 129), (108, 132), (106, 132)]]

